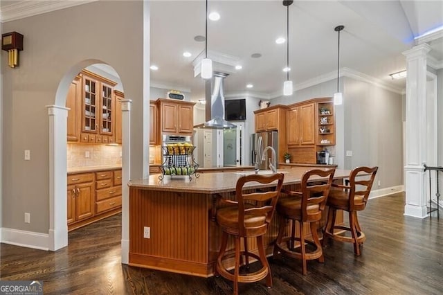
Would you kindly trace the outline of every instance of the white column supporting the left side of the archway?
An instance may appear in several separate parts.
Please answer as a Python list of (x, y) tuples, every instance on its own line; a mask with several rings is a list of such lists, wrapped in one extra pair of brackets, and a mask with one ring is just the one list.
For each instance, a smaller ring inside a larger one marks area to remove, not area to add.
[[(49, 115), (49, 239), (48, 248), (58, 250), (68, 245), (66, 222), (66, 120), (68, 108), (48, 105)], [(60, 138), (62, 137), (62, 138)], [(57, 159), (57, 163), (55, 161)], [(64, 208), (64, 210), (57, 210)]]

